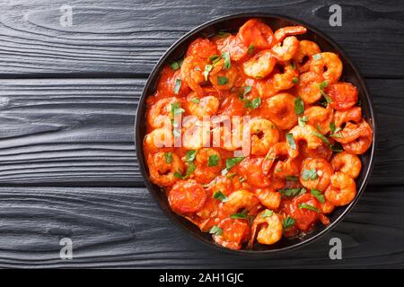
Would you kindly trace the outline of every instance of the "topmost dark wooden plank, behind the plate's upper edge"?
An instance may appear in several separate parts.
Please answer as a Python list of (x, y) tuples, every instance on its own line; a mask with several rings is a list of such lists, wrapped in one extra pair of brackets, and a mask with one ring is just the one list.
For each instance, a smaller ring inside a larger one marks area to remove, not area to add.
[[(73, 8), (73, 26), (60, 7)], [(326, 32), (369, 77), (404, 77), (404, 7), (398, 1), (339, 1), (342, 27), (329, 26), (335, 1), (6, 0), (0, 4), (0, 76), (150, 73), (162, 53), (203, 22), (230, 13), (280, 13)]]

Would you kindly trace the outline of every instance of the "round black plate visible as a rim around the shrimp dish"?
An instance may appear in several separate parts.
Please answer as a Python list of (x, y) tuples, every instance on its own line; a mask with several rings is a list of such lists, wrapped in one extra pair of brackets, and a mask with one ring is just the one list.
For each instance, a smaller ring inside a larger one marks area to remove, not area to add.
[[(155, 186), (148, 177), (148, 170), (145, 164), (145, 155), (143, 152), (143, 139), (145, 138), (145, 100), (146, 98), (153, 94), (154, 89), (156, 87), (159, 73), (162, 70), (163, 65), (167, 63), (171, 63), (171, 61), (178, 59), (181, 57), (186, 49), (189, 46), (189, 43), (197, 39), (198, 37), (210, 37), (217, 33), (219, 30), (227, 30), (227, 31), (236, 31), (238, 30), (244, 22), (249, 20), (250, 18), (260, 18), (263, 22), (268, 23), (268, 25), (272, 28), (272, 30), (277, 30), (278, 28), (301, 24), (308, 29), (307, 33), (304, 35), (300, 35), (299, 39), (310, 39), (315, 41), (321, 48), (321, 51), (331, 51), (335, 52), (341, 58), (344, 64), (344, 71), (340, 78), (340, 81), (347, 81), (349, 83), (353, 83), (356, 85), (359, 91), (359, 99), (362, 105), (362, 113), (363, 117), (369, 122), (371, 126), (373, 126), (373, 144), (372, 147), (361, 157), (363, 168), (361, 174), (356, 179), (356, 187), (357, 187), (357, 196), (355, 200), (348, 204), (347, 206), (343, 206), (334, 211), (334, 213), (330, 214), (329, 220), (330, 224), (328, 226), (323, 226), (318, 224), (315, 228), (303, 237), (294, 238), (294, 239), (281, 239), (277, 244), (274, 245), (260, 245), (256, 244), (252, 249), (242, 249), (238, 251), (233, 251), (227, 248), (222, 248), (220, 246), (215, 245), (212, 241), (212, 237), (210, 234), (203, 233), (198, 230), (194, 224), (189, 222), (188, 220), (180, 217), (176, 213), (173, 213), (170, 209), (170, 206), (167, 202), (167, 198), (165, 194), (162, 192), (160, 187)], [(145, 185), (152, 194), (152, 196), (157, 200), (160, 204), (160, 207), (167, 214), (167, 216), (180, 226), (183, 230), (186, 230), (193, 237), (205, 242), (211, 247), (219, 248), (221, 250), (225, 250), (232, 253), (237, 254), (268, 254), (274, 253), (284, 250), (289, 250), (292, 248), (302, 247), (304, 245), (309, 244), (314, 239), (319, 239), (323, 236), (327, 231), (333, 229), (338, 222), (342, 221), (342, 219), (349, 213), (349, 211), (354, 207), (359, 197), (364, 192), (364, 187), (369, 179), (372, 166), (373, 166), (373, 152), (375, 146), (375, 136), (376, 136), (376, 128), (375, 128), (375, 117), (373, 113), (372, 100), (370, 99), (369, 93), (367, 91), (366, 85), (364, 83), (364, 79), (359, 74), (356, 66), (351, 62), (351, 60), (347, 57), (346, 53), (338, 47), (337, 44), (334, 43), (331, 39), (322, 34), (319, 30), (312, 28), (310, 25), (307, 25), (303, 22), (298, 22), (293, 19), (281, 16), (274, 15), (268, 13), (242, 13), (242, 14), (233, 14), (224, 16), (218, 19), (215, 19), (210, 22), (206, 22), (205, 24), (199, 26), (198, 28), (191, 30), (188, 34), (180, 38), (177, 42), (175, 42), (171, 48), (165, 52), (162, 58), (159, 60), (157, 65), (155, 65), (152, 74), (150, 74), (147, 83), (145, 83), (145, 89), (142, 93), (142, 97), (139, 100), (139, 104), (136, 112), (136, 154), (137, 160), (139, 161), (139, 168), (142, 172), (142, 175), (145, 179)]]

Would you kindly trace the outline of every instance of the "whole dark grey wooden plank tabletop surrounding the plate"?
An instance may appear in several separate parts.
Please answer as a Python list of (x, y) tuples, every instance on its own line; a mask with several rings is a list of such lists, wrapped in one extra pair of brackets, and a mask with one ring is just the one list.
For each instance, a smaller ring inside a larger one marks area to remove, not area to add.
[[(68, 2), (68, 3), (67, 3)], [(220, 3), (220, 4), (219, 4)], [(73, 8), (73, 26), (60, 7)], [(0, 266), (404, 267), (404, 5), (338, 1), (3, 0)], [(215, 17), (282, 13), (326, 32), (366, 78), (379, 120), (370, 185), (344, 222), (285, 254), (237, 257), (173, 226), (139, 174), (133, 125), (145, 79), (181, 35)], [(59, 240), (73, 240), (61, 260)], [(329, 259), (329, 239), (343, 259)]]

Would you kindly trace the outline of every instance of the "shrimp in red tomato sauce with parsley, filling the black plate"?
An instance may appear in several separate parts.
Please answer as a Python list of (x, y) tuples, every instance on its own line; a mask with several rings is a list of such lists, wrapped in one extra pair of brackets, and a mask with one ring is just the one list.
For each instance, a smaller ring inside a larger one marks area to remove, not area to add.
[(329, 224), (356, 198), (373, 127), (338, 54), (260, 19), (194, 39), (146, 103), (150, 180), (224, 248)]

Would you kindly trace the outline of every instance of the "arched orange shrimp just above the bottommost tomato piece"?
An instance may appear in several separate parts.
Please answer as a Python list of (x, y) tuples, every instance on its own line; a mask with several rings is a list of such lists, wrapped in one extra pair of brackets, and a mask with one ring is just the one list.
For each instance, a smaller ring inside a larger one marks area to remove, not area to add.
[(234, 191), (227, 197), (227, 201), (219, 205), (218, 216), (226, 218), (234, 213), (247, 211), (248, 214), (255, 214), (259, 209), (258, 197), (245, 189)]

